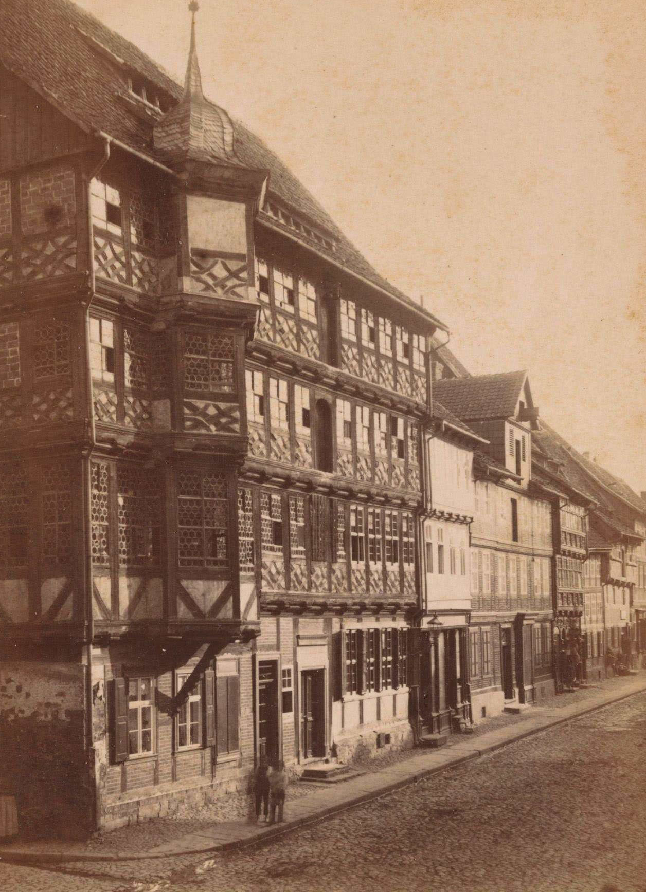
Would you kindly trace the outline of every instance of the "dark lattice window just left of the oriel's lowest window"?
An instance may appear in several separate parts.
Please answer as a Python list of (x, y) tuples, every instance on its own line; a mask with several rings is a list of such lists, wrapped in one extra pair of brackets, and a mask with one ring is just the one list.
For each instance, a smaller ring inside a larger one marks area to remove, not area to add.
[(159, 559), (161, 491), (143, 467), (117, 466), (117, 518), (120, 566)]

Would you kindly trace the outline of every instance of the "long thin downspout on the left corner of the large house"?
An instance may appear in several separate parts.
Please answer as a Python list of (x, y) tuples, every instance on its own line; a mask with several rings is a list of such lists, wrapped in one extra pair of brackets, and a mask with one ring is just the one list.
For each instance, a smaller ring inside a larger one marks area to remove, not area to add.
[[(87, 455), (84, 456), (84, 460), (82, 462), (83, 468), (83, 533), (85, 540), (89, 544), (91, 539), (92, 531), (91, 531), (91, 481), (90, 481), (90, 462), (89, 458), (92, 454), (92, 450), (95, 445), (95, 417), (94, 410), (92, 404), (92, 371), (90, 368), (90, 323), (89, 323), (89, 310), (92, 304), (92, 299), (95, 296), (95, 252), (94, 252), (94, 232), (92, 227), (92, 210), (91, 210), (91, 188), (92, 188), (92, 180), (96, 177), (101, 169), (104, 168), (104, 165), (110, 159), (110, 137), (102, 135), (101, 138), (104, 140), (103, 154), (100, 160), (95, 164), (95, 167), (87, 172), (87, 181), (86, 181), (86, 206), (87, 206), (87, 268), (89, 271), (89, 300), (87, 301), (87, 306), (85, 310), (84, 317), (84, 333), (83, 339), (85, 343), (85, 379), (87, 381), (87, 417), (89, 419), (89, 450), (87, 450)], [(85, 733), (87, 740), (87, 768), (88, 768), (88, 783), (91, 783), (91, 807), (92, 807), (92, 823), (93, 830), (96, 829), (97, 822), (97, 812), (98, 812), (98, 797), (99, 792), (96, 787), (96, 755), (95, 755), (95, 747), (94, 747), (94, 739), (92, 735), (92, 641), (94, 640), (95, 630), (94, 630), (94, 617), (92, 612), (92, 553), (91, 549), (87, 549), (86, 555), (84, 558), (84, 566), (83, 566), (83, 575), (85, 577), (85, 589), (87, 591), (87, 599), (86, 599), (86, 619), (87, 619), (87, 640), (85, 643), (86, 650), (86, 685), (85, 685)], [(104, 698), (106, 694), (104, 691)], [(105, 701), (104, 701), (105, 702)]]

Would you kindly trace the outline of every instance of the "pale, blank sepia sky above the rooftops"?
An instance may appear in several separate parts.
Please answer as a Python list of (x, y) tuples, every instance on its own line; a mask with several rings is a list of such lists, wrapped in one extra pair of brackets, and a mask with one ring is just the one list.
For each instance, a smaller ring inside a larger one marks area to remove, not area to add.
[[(183, 78), (184, 0), (81, 0)], [(646, 490), (646, 4), (201, 0), (204, 91), (472, 374)]]

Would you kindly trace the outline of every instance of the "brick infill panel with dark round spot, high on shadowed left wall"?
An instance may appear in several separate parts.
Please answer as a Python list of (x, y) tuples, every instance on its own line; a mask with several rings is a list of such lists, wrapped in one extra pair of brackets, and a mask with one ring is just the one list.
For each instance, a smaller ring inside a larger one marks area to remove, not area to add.
[[(47, 209), (59, 209), (55, 219), (47, 220)], [(52, 228), (74, 226), (76, 196), (74, 171), (50, 168), (21, 177), (21, 223), (24, 235), (37, 235)]]

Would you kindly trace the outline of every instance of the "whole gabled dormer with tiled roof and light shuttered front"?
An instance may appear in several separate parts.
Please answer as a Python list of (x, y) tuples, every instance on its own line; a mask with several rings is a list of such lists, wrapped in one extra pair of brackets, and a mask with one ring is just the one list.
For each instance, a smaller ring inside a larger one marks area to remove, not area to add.
[(538, 427), (527, 373), (435, 381), (434, 400), (489, 441), (486, 451), (526, 487), (532, 475), (532, 431)]

